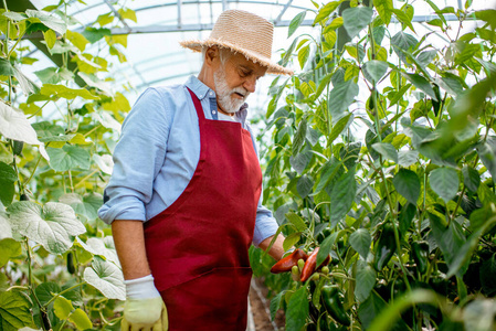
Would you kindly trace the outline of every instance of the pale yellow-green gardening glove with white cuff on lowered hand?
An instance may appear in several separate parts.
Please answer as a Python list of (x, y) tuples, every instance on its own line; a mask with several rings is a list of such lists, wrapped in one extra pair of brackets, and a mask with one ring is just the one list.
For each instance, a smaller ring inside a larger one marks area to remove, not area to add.
[(123, 331), (167, 331), (167, 308), (154, 285), (154, 277), (125, 280), (126, 303), (120, 323)]

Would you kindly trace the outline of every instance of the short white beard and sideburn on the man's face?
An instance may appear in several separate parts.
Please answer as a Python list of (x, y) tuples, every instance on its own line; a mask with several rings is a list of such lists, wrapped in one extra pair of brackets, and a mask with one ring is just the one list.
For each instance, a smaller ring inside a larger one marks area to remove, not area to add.
[[(225, 79), (225, 72), (221, 67), (213, 73), (213, 84), (215, 86), (215, 93), (220, 108), (229, 114), (233, 114), (240, 110), (241, 106), (243, 106), (244, 104), (244, 100), (250, 95), (250, 93), (241, 86), (231, 89)], [(240, 93), (244, 97), (241, 99), (233, 98), (233, 93)]]

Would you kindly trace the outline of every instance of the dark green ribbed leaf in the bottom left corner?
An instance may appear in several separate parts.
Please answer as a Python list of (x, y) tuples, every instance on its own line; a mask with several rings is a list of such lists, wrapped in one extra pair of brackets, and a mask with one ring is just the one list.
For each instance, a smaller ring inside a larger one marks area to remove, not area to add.
[(31, 302), (20, 291), (0, 291), (0, 327), (2, 331), (34, 328)]

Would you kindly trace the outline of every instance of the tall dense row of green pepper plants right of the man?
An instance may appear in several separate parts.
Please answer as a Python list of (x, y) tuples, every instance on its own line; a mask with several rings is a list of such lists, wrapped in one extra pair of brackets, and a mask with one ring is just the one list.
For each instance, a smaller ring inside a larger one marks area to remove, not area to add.
[(496, 10), (416, 1), (422, 34), (411, 2), (313, 1), (318, 38), (282, 55), (264, 203), (286, 249), (333, 258), (302, 282), (251, 252), (286, 330), (496, 328)]

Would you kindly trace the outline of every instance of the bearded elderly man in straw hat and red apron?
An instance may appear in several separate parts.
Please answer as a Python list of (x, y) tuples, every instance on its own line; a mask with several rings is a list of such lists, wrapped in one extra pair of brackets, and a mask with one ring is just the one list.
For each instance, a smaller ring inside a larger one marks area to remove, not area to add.
[(209, 39), (181, 43), (202, 52), (198, 77), (147, 89), (127, 116), (99, 210), (126, 279), (123, 330), (245, 329), (247, 249), (277, 229), (244, 103), (266, 73), (291, 74), (272, 39), (266, 20), (223, 12)]

